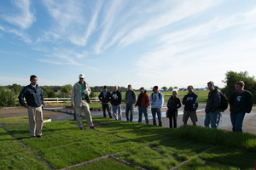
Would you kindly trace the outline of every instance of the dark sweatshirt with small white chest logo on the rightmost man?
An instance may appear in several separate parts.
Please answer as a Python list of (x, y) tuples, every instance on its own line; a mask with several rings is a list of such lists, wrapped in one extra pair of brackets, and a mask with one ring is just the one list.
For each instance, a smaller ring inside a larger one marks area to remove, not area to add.
[(230, 111), (237, 113), (250, 113), (253, 108), (253, 95), (245, 90), (243, 93), (233, 92), (230, 97)]

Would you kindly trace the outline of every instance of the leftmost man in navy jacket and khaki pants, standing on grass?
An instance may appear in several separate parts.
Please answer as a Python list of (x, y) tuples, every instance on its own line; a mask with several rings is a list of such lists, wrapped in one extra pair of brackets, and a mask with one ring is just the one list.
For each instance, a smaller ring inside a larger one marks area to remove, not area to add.
[[(38, 77), (32, 75), (30, 77), (30, 85), (23, 88), (19, 95), (20, 105), (24, 106), (28, 111), (29, 131), (32, 138), (43, 138), (43, 111), (44, 94), (38, 86)], [(26, 103), (24, 102), (26, 99)], [(37, 129), (37, 130), (36, 130)]]

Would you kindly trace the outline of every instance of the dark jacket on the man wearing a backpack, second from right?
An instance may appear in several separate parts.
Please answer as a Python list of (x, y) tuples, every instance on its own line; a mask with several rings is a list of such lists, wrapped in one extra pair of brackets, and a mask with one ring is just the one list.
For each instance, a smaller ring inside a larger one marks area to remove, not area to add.
[(212, 90), (212, 92), (209, 92), (208, 99), (207, 99), (207, 105), (206, 105), (206, 113), (219, 111), (220, 106), (220, 92), (218, 89)]

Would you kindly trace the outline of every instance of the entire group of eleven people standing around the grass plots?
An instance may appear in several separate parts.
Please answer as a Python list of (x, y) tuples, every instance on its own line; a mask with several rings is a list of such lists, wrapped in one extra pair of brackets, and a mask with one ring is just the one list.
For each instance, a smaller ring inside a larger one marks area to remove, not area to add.
[[(90, 86), (87, 82), (84, 82), (84, 74), (79, 75), (79, 82), (73, 85), (71, 94), (71, 105), (75, 109), (76, 119), (78, 127), (83, 130), (83, 123), (81, 118), (81, 112), (84, 112), (85, 118), (90, 128), (96, 128), (92, 122), (90, 115)], [(23, 88), (19, 95), (20, 105), (24, 106), (28, 110), (29, 117), (29, 128), (30, 135), (32, 138), (43, 138), (43, 111), (42, 106), (44, 105), (44, 93), (43, 90), (38, 86), (38, 77), (32, 75), (30, 77), (30, 84)], [(230, 98), (230, 120), (232, 123), (232, 130), (234, 132), (242, 132), (242, 122), (245, 113), (252, 111), (253, 107), (253, 95), (244, 89), (244, 82), (236, 82), (236, 91), (231, 95)], [(210, 92), (208, 94), (207, 105), (206, 105), (206, 118), (204, 121), (205, 127), (218, 128), (218, 122), (221, 117), (221, 104), (222, 97), (221, 92), (218, 88), (214, 87), (213, 82), (208, 82), (207, 87)], [(198, 107), (198, 95), (194, 93), (193, 86), (188, 86), (188, 94), (183, 97), (182, 104), (184, 105), (183, 111), (183, 125), (187, 125), (189, 117), (196, 126), (197, 116), (196, 109)], [(140, 94), (137, 95), (131, 88), (131, 84), (128, 85), (128, 91), (125, 93), (125, 116), (126, 120), (133, 121), (133, 105), (138, 106), (138, 122), (142, 122), (143, 115), (145, 121), (148, 124), (148, 106), (151, 105), (151, 113), (153, 116), (153, 125), (156, 126), (156, 116), (158, 116), (159, 126), (162, 126), (161, 120), (161, 108), (164, 105), (164, 95), (160, 93), (158, 86), (154, 86), (153, 93), (148, 95), (145, 88), (140, 88)], [(102, 101), (103, 116), (108, 111), (109, 118), (112, 118), (109, 102), (113, 109), (113, 118), (115, 120), (122, 119), (122, 113), (120, 104), (122, 102), (122, 94), (119, 92), (118, 87), (114, 87), (113, 93), (108, 91), (105, 86), (102, 93), (98, 96)], [(24, 101), (26, 98), (26, 103)], [(169, 117), (170, 127), (177, 128), (177, 110), (181, 107), (181, 101), (177, 98), (177, 91), (172, 92), (172, 96), (168, 99), (166, 116)], [(130, 112), (130, 115), (129, 115)], [(172, 126), (173, 122), (173, 126)]]

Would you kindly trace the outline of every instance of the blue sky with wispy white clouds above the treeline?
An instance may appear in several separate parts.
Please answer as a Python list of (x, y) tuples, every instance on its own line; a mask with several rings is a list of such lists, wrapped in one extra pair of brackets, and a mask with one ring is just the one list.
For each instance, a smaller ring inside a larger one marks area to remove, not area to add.
[(255, 55), (255, 0), (0, 1), (2, 86), (223, 88)]

